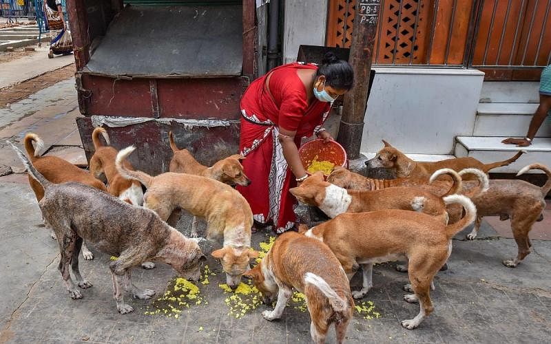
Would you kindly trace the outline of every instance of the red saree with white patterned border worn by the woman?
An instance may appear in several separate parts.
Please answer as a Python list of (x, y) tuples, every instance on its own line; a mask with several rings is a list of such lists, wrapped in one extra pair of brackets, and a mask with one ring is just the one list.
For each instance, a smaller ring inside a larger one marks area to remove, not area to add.
[[(257, 222), (270, 220), (276, 233), (293, 227), (296, 220), (295, 197), (289, 189), (296, 186), (295, 177), (283, 157), (278, 141), (278, 127), (296, 131), (295, 144), (313, 135), (324, 122), (330, 103), (314, 99), (306, 102), (306, 89), (297, 69), (318, 69), (316, 65), (290, 63), (272, 69), (253, 81), (241, 100), (240, 153), (246, 156), (243, 168), (251, 185), (238, 186), (247, 199)], [(265, 82), (268, 75), (270, 94)], [(273, 98), (272, 98), (273, 97)]]

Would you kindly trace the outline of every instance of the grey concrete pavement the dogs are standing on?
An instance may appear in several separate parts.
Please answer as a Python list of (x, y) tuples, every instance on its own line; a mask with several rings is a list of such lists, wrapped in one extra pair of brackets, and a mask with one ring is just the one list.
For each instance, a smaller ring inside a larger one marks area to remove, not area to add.
[[(0, 142), (21, 142), (28, 131), (42, 136), (48, 153), (67, 158), (67, 147), (76, 149), (80, 139), (74, 118), (74, 80), (42, 89), (0, 109)], [(11, 149), (0, 143), (0, 164), (21, 171)], [(265, 321), (259, 305), (236, 319), (229, 315), (227, 299), (219, 287), (225, 278), (218, 262), (207, 264), (214, 275), (209, 283), (196, 283), (203, 302), (192, 304), (181, 316), (150, 315), (160, 302), (130, 299), (132, 314), (116, 312), (112, 299), (110, 257), (91, 249), (93, 261), (80, 260), (81, 272), (94, 286), (83, 290), (83, 299), (67, 294), (56, 266), (59, 248), (41, 221), (27, 177), (16, 173), (0, 177), (0, 343), (309, 343), (309, 314), (290, 305), (280, 321)], [(547, 216), (551, 218), (551, 216)], [(189, 235), (191, 217), (180, 219), (177, 229)], [(551, 336), (551, 241), (532, 236), (532, 254), (517, 268), (506, 268), (503, 259), (516, 255), (514, 239), (504, 237), (483, 222), (475, 241), (464, 239), (470, 228), (453, 240), (449, 269), (435, 277), (431, 293), (435, 312), (417, 330), (402, 328), (399, 321), (419, 312), (406, 303), (402, 286), (406, 274), (395, 262), (375, 266), (374, 287), (364, 298), (373, 301), (378, 319), (355, 314), (346, 335), (347, 343), (548, 343)], [(199, 233), (205, 231), (200, 222)], [(260, 248), (271, 233), (255, 233), (253, 246)], [(205, 254), (218, 246), (201, 244)], [(164, 264), (154, 270), (134, 270), (136, 285), (167, 290), (176, 275)], [(360, 288), (360, 276), (351, 282)], [(166, 309), (166, 308), (165, 308)], [(148, 314), (146, 314), (146, 312)], [(335, 343), (331, 330), (328, 343)]]

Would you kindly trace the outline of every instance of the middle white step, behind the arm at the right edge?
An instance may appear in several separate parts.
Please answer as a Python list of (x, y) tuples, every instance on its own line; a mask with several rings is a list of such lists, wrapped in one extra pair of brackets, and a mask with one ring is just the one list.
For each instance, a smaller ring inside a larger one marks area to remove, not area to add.
[[(525, 136), (538, 104), (479, 103), (473, 136)], [(537, 137), (551, 137), (551, 126), (543, 122)]]

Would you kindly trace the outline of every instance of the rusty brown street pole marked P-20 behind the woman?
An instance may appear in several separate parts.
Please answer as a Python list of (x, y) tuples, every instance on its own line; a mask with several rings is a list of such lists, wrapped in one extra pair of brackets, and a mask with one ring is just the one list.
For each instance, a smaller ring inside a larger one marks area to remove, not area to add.
[(354, 69), (354, 87), (344, 96), (337, 141), (351, 160), (360, 157), (364, 116), (367, 107), (371, 56), (375, 45), (380, 0), (358, 0), (350, 48), (349, 62)]

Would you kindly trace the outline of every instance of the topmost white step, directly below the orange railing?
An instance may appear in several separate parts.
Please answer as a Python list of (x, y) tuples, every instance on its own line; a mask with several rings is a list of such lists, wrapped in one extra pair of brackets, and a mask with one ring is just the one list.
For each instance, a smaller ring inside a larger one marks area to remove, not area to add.
[(484, 81), (480, 103), (539, 103), (539, 82)]

